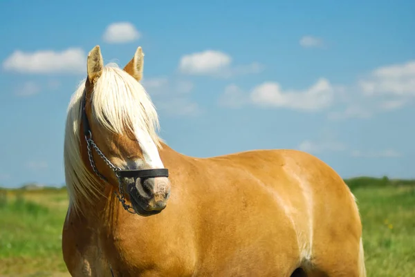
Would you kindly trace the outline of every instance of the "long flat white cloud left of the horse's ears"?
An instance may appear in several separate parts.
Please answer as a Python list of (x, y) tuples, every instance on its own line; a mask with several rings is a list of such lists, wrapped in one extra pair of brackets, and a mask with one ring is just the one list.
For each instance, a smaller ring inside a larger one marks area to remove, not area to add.
[(81, 48), (35, 52), (15, 50), (3, 61), (3, 69), (18, 73), (85, 73), (86, 54)]

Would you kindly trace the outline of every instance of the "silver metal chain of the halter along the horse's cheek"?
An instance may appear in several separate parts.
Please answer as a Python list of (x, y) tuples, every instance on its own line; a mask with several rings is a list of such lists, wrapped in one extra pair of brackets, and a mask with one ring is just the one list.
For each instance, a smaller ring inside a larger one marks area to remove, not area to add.
[(95, 172), (96, 175), (98, 175), (98, 177), (100, 177), (102, 180), (104, 180), (105, 182), (108, 182), (107, 178), (105, 178), (101, 173), (98, 172), (97, 167), (95, 166), (95, 162), (93, 162), (93, 155), (92, 155), (92, 149), (91, 149), (91, 145), (93, 146), (93, 149), (95, 149), (95, 151), (98, 153), (98, 155), (100, 155), (100, 157), (102, 158), (102, 160), (104, 160), (104, 162), (114, 171), (114, 173), (117, 176), (118, 179), (118, 189), (120, 190), (120, 194), (117, 193), (117, 191), (114, 191), (114, 194), (116, 195), (116, 197), (118, 198), (118, 200), (121, 202), (122, 207), (124, 207), (124, 209), (126, 211), (128, 211), (129, 213), (136, 213), (135, 211), (130, 211), (130, 209), (132, 208), (129, 204), (125, 204), (125, 198), (124, 198), (124, 188), (122, 187), (122, 182), (121, 182), (121, 178), (120, 175), (118, 174), (118, 171), (120, 171), (121, 169), (118, 166), (113, 165), (108, 159), (107, 157), (105, 157), (104, 153), (102, 153), (102, 151), (98, 148), (98, 146), (95, 144), (95, 142), (93, 142), (93, 140), (91, 139), (92, 134), (91, 131), (89, 131), (89, 137), (85, 136), (85, 140), (86, 140), (86, 148), (88, 149), (88, 157), (89, 157), (89, 163), (92, 166), (93, 171)]

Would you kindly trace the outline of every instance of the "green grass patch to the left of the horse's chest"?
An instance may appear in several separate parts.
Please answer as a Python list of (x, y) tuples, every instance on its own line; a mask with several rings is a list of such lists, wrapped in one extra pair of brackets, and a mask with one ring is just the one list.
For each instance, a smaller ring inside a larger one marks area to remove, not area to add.
[(66, 271), (61, 254), (65, 195), (62, 190), (0, 191), (1, 276), (52, 276)]

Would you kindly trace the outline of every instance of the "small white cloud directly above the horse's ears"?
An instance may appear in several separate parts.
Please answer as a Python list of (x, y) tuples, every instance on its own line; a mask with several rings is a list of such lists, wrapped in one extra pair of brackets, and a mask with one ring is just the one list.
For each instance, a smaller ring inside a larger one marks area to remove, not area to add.
[(129, 22), (116, 22), (107, 26), (102, 39), (109, 44), (125, 44), (140, 39), (141, 34)]

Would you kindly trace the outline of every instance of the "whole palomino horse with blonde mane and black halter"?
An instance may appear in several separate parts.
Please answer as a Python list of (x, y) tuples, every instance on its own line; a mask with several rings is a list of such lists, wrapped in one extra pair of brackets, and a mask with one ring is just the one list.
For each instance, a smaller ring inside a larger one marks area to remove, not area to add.
[(366, 276), (358, 207), (331, 167), (294, 150), (174, 151), (143, 58), (104, 66), (95, 46), (68, 107), (72, 276)]

